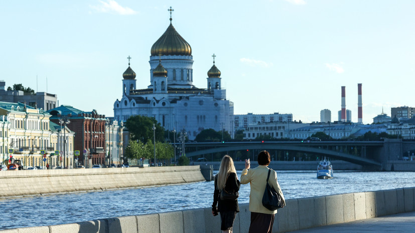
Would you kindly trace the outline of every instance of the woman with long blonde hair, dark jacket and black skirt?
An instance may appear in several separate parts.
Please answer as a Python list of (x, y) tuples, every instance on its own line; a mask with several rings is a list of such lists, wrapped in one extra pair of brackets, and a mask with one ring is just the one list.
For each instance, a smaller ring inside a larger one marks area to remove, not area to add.
[(213, 193), (212, 204), (213, 216), (218, 215), (218, 212), (220, 213), (220, 229), (222, 233), (232, 233), (233, 221), (235, 220), (236, 213), (239, 212), (239, 205), (238, 199), (221, 200), (220, 190), (233, 193), (239, 191), (240, 186), (232, 158), (229, 155), (223, 156), (219, 172), (215, 175), (215, 192)]

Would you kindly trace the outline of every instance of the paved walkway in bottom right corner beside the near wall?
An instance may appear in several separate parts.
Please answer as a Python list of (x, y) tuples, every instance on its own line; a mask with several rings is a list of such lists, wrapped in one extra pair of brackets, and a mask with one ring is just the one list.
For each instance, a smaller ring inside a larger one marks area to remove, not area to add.
[(415, 232), (415, 212), (399, 213), (292, 232)]

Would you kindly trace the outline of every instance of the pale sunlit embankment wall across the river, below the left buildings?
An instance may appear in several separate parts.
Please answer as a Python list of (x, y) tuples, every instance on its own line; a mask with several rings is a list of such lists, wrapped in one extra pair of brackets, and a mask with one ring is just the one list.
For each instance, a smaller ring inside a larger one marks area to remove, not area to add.
[(0, 172), (0, 197), (205, 181), (199, 165)]

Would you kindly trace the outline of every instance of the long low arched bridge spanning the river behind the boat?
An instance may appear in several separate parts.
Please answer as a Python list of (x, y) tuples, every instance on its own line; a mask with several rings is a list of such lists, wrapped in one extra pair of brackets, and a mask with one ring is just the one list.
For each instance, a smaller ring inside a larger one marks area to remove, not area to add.
[[(402, 157), (402, 150), (415, 149), (415, 143), (402, 148), (402, 140), (387, 139), (385, 141), (273, 141), (273, 142), (196, 142), (186, 143), (186, 156), (200, 156), (218, 152), (229, 153), (243, 150), (292, 151), (305, 154), (326, 156), (347, 162), (381, 166), (386, 160), (397, 160)], [(400, 149), (396, 149), (400, 148)]]

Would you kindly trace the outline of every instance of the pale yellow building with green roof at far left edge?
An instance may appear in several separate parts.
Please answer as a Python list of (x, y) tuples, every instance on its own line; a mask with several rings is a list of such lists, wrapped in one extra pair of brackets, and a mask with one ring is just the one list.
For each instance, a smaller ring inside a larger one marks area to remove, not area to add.
[[(0, 102), (0, 126), (4, 137), (3, 155), (24, 167), (46, 166), (43, 154), (54, 152), (50, 146), (49, 113), (22, 103)], [(7, 122), (7, 123), (6, 123)], [(6, 147), (5, 147), (6, 145)]]

